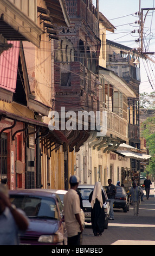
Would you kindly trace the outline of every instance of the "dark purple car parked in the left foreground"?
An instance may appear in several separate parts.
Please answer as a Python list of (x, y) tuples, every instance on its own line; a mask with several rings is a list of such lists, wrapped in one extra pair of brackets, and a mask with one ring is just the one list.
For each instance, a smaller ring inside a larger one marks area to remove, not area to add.
[(20, 237), (22, 245), (67, 245), (60, 197), (49, 190), (9, 191), (11, 203), (29, 217), (29, 228)]

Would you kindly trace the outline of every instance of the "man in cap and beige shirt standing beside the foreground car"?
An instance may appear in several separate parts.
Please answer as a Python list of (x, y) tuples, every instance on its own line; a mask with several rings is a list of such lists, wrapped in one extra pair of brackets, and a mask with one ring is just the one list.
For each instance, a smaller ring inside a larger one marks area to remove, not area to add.
[(80, 245), (80, 234), (83, 231), (80, 213), (80, 198), (76, 192), (79, 185), (79, 177), (70, 176), (70, 189), (64, 195), (64, 221), (68, 233), (68, 245)]

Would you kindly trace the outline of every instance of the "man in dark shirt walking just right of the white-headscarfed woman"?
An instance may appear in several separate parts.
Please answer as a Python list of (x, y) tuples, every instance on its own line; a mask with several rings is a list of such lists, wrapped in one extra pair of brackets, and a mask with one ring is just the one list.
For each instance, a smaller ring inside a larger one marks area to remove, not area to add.
[(112, 184), (112, 180), (108, 179), (108, 184), (109, 186), (107, 186), (107, 197), (110, 200), (110, 211), (109, 211), (109, 220), (114, 220), (114, 210), (113, 210), (113, 203), (114, 203), (114, 199), (115, 199), (115, 194), (117, 192), (116, 187)]

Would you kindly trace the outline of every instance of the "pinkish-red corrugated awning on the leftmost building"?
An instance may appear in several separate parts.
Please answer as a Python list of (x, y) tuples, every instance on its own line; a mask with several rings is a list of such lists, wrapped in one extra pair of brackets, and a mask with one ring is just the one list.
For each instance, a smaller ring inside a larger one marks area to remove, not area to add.
[(15, 92), (20, 41), (8, 41), (13, 46), (0, 56), (0, 87)]

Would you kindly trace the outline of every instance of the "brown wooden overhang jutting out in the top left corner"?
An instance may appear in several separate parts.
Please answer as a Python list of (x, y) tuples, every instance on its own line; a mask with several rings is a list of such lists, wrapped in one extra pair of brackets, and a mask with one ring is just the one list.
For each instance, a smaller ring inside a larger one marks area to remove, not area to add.
[(30, 41), (39, 47), (44, 31), (10, 1), (0, 1), (0, 31), (7, 40)]

